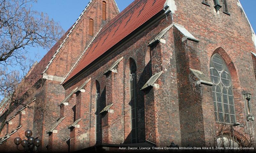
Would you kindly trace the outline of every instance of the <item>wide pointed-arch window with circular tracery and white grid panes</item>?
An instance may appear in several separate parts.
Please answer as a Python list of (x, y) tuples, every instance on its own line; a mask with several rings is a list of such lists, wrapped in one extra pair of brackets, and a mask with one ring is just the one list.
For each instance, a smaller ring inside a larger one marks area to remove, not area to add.
[(234, 96), (229, 69), (221, 56), (215, 54), (210, 61), (210, 77), (213, 82), (213, 105), (217, 122), (236, 122)]

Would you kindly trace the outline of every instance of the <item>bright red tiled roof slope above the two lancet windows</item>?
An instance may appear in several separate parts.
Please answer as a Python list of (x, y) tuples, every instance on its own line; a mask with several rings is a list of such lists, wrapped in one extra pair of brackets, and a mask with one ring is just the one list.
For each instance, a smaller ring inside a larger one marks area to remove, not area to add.
[(161, 11), (165, 1), (166, 0), (135, 0), (130, 4), (111, 22), (103, 27), (82, 56), (77, 66), (67, 76), (64, 83)]

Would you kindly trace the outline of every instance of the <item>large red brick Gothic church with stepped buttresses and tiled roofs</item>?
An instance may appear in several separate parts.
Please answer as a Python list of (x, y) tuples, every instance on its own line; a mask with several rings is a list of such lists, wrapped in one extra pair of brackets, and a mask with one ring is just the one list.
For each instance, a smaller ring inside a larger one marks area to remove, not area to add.
[(36, 92), (6, 118), (0, 149), (17, 151), (27, 129), (45, 152), (249, 146), (255, 45), (239, 0), (135, 0), (122, 12), (91, 0), (29, 71)]

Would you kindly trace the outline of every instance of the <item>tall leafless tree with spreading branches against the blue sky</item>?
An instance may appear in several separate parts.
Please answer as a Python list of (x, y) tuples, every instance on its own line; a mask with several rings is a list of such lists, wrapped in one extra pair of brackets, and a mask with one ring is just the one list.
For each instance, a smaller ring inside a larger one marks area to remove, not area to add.
[(47, 14), (32, 10), (35, 2), (0, 0), (0, 116), (3, 115), (2, 110), (5, 112), (0, 133), (6, 117), (17, 106), (27, 106), (24, 99), (34, 94), (33, 80), (41, 75), (36, 71), (25, 75), (34, 63), (26, 56), (30, 53), (29, 49), (50, 48), (64, 33)]

